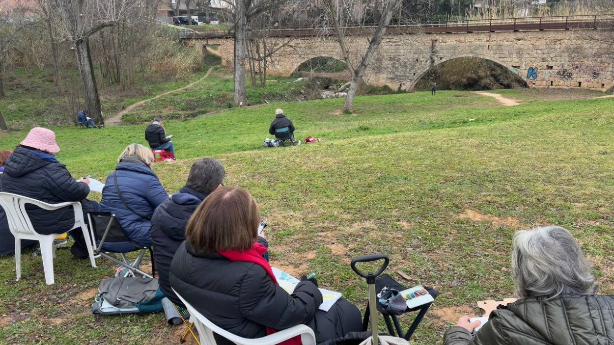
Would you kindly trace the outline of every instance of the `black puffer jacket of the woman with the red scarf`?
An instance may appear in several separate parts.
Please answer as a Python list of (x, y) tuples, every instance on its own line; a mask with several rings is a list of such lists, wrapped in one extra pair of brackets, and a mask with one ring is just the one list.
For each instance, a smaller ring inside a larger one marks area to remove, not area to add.
[(244, 338), (266, 336), (266, 327), (284, 330), (313, 324), (322, 303), (322, 294), (311, 282), (300, 282), (289, 295), (262, 266), (231, 262), (219, 254), (195, 255), (186, 242), (173, 258), (170, 279), (173, 288), (207, 319)]

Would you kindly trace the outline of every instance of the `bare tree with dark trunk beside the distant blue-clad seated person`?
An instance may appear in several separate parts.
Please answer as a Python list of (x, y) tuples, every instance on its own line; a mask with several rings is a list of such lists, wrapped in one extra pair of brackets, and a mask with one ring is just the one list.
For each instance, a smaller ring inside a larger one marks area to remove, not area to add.
[(104, 119), (91, 61), (90, 37), (101, 29), (124, 21), (137, 4), (131, 0), (52, 0), (56, 32), (74, 44), (85, 108), (97, 123), (104, 123)]

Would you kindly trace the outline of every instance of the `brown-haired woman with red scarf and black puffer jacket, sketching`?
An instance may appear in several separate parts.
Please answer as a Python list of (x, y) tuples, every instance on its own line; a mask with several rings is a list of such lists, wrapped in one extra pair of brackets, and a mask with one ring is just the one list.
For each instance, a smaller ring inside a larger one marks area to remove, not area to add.
[[(313, 328), (317, 343), (362, 330), (356, 306), (343, 298), (318, 309), (316, 279), (303, 277), (292, 295), (276, 284), (266, 247), (257, 242), (258, 206), (247, 190), (222, 187), (192, 215), (173, 262), (173, 289), (218, 327), (244, 338), (299, 324)], [(216, 335), (219, 345), (230, 341)]]

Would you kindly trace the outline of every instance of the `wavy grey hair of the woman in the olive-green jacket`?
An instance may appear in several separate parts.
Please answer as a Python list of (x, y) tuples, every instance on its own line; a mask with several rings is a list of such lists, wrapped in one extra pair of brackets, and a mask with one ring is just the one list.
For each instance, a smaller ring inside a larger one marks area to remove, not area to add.
[(564, 228), (540, 227), (514, 235), (511, 272), (518, 298), (590, 295), (596, 289), (592, 267)]

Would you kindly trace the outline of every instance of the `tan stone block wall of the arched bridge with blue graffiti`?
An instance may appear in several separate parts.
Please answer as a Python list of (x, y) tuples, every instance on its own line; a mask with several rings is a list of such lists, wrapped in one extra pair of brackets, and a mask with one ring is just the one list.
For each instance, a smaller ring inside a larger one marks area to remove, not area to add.
[[(553, 30), (497, 33), (386, 35), (367, 71), (366, 81), (376, 85), (413, 89), (432, 66), (454, 58), (475, 56), (510, 69), (530, 87), (614, 87), (612, 48), (587, 38), (594, 31)], [(348, 37), (352, 63), (358, 63), (368, 37)], [(233, 66), (233, 42), (220, 40), (222, 64)], [(317, 56), (341, 60), (339, 45), (322, 37), (293, 39), (268, 65), (271, 74), (290, 76), (301, 63)]]

